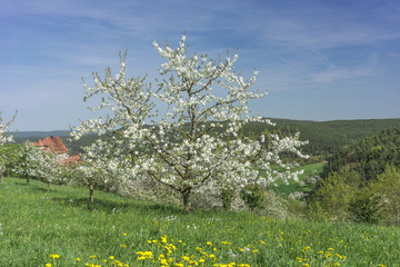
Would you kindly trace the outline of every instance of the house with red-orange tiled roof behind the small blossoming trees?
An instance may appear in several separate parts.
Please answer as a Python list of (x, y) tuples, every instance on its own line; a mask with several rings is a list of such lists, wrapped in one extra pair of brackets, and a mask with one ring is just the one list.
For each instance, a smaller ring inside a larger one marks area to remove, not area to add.
[(39, 139), (38, 142), (33, 142), (32, 145), (40, 147), (46, 152), (52, 152), (60, 165), (64, 166), (80, 161), (80, 157), (78, 155), (76, 156), (69, 155), (68, 148), (59, 137), (54, 137), (54, 136), (46, 137), (43, 140)]

